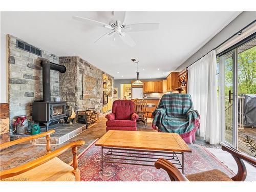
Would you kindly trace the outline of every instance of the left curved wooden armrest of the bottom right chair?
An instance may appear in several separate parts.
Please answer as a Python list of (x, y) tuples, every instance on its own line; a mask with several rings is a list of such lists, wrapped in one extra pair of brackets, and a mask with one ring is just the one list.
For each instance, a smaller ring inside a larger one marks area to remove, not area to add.
[(179, 169), (173, 163), (164, 158), (159, 158), (155, 162), (155, 167), (157, 169), (164, 169), (168, 173), (171, 181), (188, 181), (188, 179), (180, 173)]

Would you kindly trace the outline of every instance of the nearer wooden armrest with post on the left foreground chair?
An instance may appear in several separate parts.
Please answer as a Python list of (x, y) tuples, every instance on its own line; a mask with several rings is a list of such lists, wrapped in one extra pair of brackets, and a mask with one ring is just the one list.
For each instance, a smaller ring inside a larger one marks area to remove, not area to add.
[[(77, 147), (83, 145), (84, 143), (85, 143), (84, 141), (76, 141), (73, 143), (69, 143), (69, 144), (66, 144), (65, 146), (58, 148), (54, 152), (51, 152), (45, 156), (39, 157), (39, 158), (37, 158), (31, 162), (28, 162), (24, 165), (20, 165), (20, 166), (17, 166), (17, 167), (8, 169), (8, 170), (3, 170), (2, 172), (0, 172), (0, 179), (13, 177), (13, 176), (22, 174), (24, 172), (27, 172), (28, 170), (33, 169), (41, 164), (44, 164), (47, 161), (50, 161), (51, 159), (59, 156), (60, 154), (66, 152), (69, 148), (72, 148), (72, 152), (73, 152), (73, 156), (74, 156), (73, 167), (74, 167), (74, 172), (75, 172), (77, 169), (77, 166), (78, 166), (77, 157), (76, 157)], [(38, 173), (38, 174), (40, 174), (40, 173)]]

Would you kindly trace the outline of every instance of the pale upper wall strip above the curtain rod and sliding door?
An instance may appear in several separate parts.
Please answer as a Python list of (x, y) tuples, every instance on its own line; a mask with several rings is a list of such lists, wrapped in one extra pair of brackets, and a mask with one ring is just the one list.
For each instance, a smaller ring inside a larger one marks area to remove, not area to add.
[(217, 35), (215, 35), (211, 40), (207, 42), (201, 49), (189, 57), (176, 71), (181, 71), (189, 66), (191, 63), (195, 62), (197, 59), (208, 53), (210, 50), (216, 48), (223, 41), (231, 37), (234, 33), (253, 22), (256, 18), (256, 11), (243, 11), (238, 15), (230, 24), (228, 24), (223, 30), (221, 30)]

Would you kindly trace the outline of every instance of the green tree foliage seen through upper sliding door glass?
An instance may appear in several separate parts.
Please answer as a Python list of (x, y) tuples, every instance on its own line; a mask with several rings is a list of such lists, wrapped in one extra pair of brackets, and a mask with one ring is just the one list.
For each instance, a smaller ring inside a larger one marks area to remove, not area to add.
[[(225, 60), (225, 95), (232, 90), (232, 57)], [(238, 54), (238, 95), (256, 94), (256, 46)]]

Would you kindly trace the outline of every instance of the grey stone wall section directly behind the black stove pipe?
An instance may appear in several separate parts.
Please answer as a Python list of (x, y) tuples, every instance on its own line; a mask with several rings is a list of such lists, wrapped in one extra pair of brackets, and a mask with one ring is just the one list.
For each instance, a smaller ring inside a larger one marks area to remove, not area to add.
[[(10, 123), (19, 115), (27, 115), (28, 118), (31, 118), (33, 100), (42, 100), (40, 57), (16, 48), (16, 39), (16, 37), (8, 35)], [(45, 50), (41, 51), (42, 58), (59, 63), (58, 56)], [(51, 70), (51, 99), (53, 100), (53, 97), (57, 95), (59, 95), (59, 72)]]

